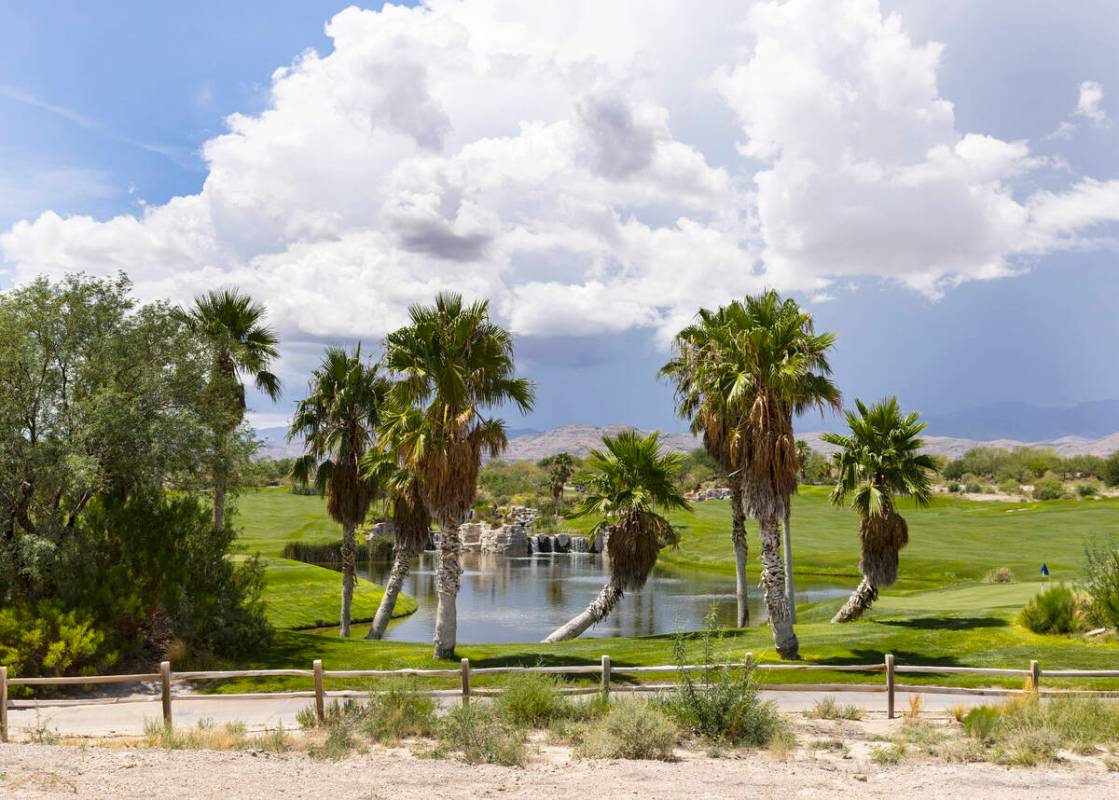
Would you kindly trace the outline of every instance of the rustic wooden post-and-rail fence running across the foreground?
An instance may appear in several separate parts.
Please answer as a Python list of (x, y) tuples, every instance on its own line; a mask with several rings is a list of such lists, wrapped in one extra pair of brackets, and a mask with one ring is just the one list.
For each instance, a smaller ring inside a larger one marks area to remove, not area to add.
[[(579, 666), (556, 666), (556, 667), (481, 667), (473, 668), (469, 659), (462, 659), (455, 669), (323, 669), (322, 661), (316, 660), (311, 669), (227, 669), (215, 671), (182, 671), (172, 672), (171, 663), (163, 661), (160, 663), (158, 672), (141, 672), (133, 675), (90, 675), (73, 676), (65, 678), (13, 678), (9, 677), (7, 667), (0, 667), (0, 742), (8, 741), (8, 709), (9, 707), (25, 707), (22, 703), (9, 702), (9, 687), (11, 686), (82, 686), (102, 684), (128, 684), (128, 683), (154, 683), (159, 681), (159, 699), (162, 705), (163, 722), (171, 724), (172, 700), (189, 702), (197, 699), (279, 699), (279, 698), (313, 698), (314, 714), (320, 723), (326, 718), (326, 699), (363, 697), (368, 693), (352, 689), (341, 689), (327, 691), (323, 686), (326, 678), (458, 678), (457, 689), (430, 689), (417, 691), (431, 697), (461, 697), (462, 704), (470, 703), (473, 697), (491, 697), (500, 693), (499, 689), (471, 687), (471, 677), (478, 675), (516, 675), (540, 672), (547, 675), (596, 675), (600, 677), (599, 686), (572, 686), (563, 687), (560, 690), (564, 694), (598, 694), (609, 696), (611, 691), (662, 691), (675, 688), (675, 684), (618, 684), (617, 676), (627, 675), (658, 675), (686, 671), (700, 671), (704, 669), (733, 669), (749, 666), (761, 672), (783, 672), (814, 670), (821, 672), (867, 672), (885, 674), (884, 684), (764, 684), (767, 691), (859, 691), (878, 693), (886, 695), (886, 716), (894, 718), (894, 699), (899, 691), (906, 694), (946, 694), (946, 695), (975, 695), (975, 696), (1007, 696), (1021, 695), (1025, 691), (1036, 691), (1041, 695), (1092, 695), (1119, 697), (1119, 691), (1076, 690), (1076, 689), (1043, 689), (1041, 680), (1049, 678), (1119, 678), (1119, 669), (1052, 669), (1042, 670), (1036, 660), (1029, 662), (1026, 669), (1002, 669), (989, 667), (948, 667), (935, 665), (896, 665), (893, 655), (887, 653), (881, 663), (756, 663), (753, 655), (746, 653), (745, 660), (736, 663), (717, 665), (686, 665), (686, 666), (651, 666), (651, 667), (626, 667), (611, 662), (609, 656), (603, 656), (598, 665)], [(897, 675), (975, 675), (990, 677), (1018, 677), (1028, 678), (1028, 689), (1007, 689), (1000, 687), (962, 687), (962, 686), (938, 686), (934, 684), (899, 684)], [(197, 680), (223, 680), (231, 678), (311, 678), (313, 689), (300, 691), (260, 691), (228, 695), (192, 695), (176, 694), (172, 689), (175, 680), (197, 681)], [(148, 697), (113, 697), (78, 700), (55, 700), (30, 702), (29, 707), (66, 707), (81, 705), (111, 705), (121, 703), (151, 703), (156, 698)]]

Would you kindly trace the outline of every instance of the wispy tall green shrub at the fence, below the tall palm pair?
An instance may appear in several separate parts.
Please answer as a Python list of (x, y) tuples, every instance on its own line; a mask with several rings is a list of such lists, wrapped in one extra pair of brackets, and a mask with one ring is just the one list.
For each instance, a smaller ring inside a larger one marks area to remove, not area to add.
[(753, 665), (715, 665), (715, 642), (721, 634), (714, 605), (704, 622), (699, 634), (703, 668), (698, 674), (684, 669), (686, 640), (681, 633), (676, 634), (676, 693), (664, 700), (664, 708), (690, 733), (708, 741), (765, 746), (783, 726), (783, 719), (774, 704), (759, 696)]

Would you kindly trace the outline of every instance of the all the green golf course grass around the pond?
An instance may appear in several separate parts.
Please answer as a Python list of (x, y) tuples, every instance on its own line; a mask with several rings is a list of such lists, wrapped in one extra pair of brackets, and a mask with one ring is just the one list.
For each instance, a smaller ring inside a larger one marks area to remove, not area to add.
[[(431, 666), (429, 642), (364, 641), (339, 639), (328, 632), (299, 631), (299, 618), (337, 622), (339, 581), (337, 573), (283, 562), (276, 558), (289, 540), (332, 540), (337, 526), (326, 516), (319, 498), (299, 497), (283, 490), (243, 496), (238, 524), (244, 528), (239, 547), (270, 558), (270, 614), (283, 620), (273, 648), (246, 667), (309, 667), (321, 658), (328, 669), (398, 669)], [(1119, 500), (1050, 501), (1044, 503), (978, 502), (938, 498), (930, 509), (904, 510), (910, 524), (910, 546), (902, 550), (902, 581), (886, 592), (867, 614), (852, 624), (828, 622), (837, 601), (801, 605), (798, 610), (801, 656), (819, 663), (881, 662), (892, 652), (899, 663), (944, 666), (1012, 667), (1025, 669), (1031, 659), (1042, 667), (1110, 669), (1119, 662), (1115, 641), (1031, 633), (1015, 622), (1022, 606), (1045, 584), (1026, 580), (1009, 584), (981, 583), (990, 570), (1007, 566), (1018, 578), (1033, 578), (1047, 563), (1056, 580), (1074, 581), (1079, 575), (1085, 537), (1119, 534)], [(827, 490), (802, 488), (793, 506), (793, 540), (798, 574), (850, 577), (857, 581), (858, 536), (856, 518), (831, 508)], [(676, 515), (683, 527), (680, 547), (661, 554), (665, 563), (731, 573), (730, 508), (725, 501), (696, 503), (689, 515)], [(574, 526), (587, 527), (585, 520)], [(752, 567), (756, 566), (756, 527), (749, 527)], [(284, 565), (286, 568), (281, 568)], [(290, 566), (288, 566), (290, 565)], [(304, 576), (302, 571), (307, 571)], [(312, 576), (313, 573), (313, 576)], [(322, 581), (321, 591), (318, 587)], [(305, 581), (305, 583), (304, 583)], [(313, 584), (313, 585), (312, 585)], [(359, 587), (369, 604), (379, 599), (379, 589)], [(411, 599), (410, 599), (411, 602)], [(321, 604), (320, 604), (321, 603)], [(275, 606), (283, 605), (283, 609)], [(302, 606), (302, 608), (300, 608)], [(313, 606), (314, 610), (310, 610)], [(412, 608), (411, 605), (407, 608)], [(369, 612), (372, 614), (372, 612)], [(365, 615), (364, 612), (360, 615)], [(314, 624), (311, 622), (310, 624)], [(740, 659), (750, 651), (765, 661), (775, 661), (768, 627), (728, 631), (717, 644), (722, 657)], [(557, 644), (467, 644), (459, 657), (476, 667), (543, 663), (598, 663), (609, 653), (617, 670), (624, 666), (671, 663), (669, 634), (582, 639)], [(881, 683), (881, 675), (852, 672), (761, 674), (762, 679), (781, 683)], [(477, 684), (485, 685), (486, 676)], [(618, 676), (624, 680), (623, 675)], [(905, 683), (940, 683), (959, 686), (1003, 685), (1021, 687), (1015, 678), (972, 676), (905, 676)], [(299, 679), (231, 681), (220, 691), (260, 688), (308, 688)], [(328, 681), (329, 683), (329, 681)], [(1068, 681), (1046, 679), (1057, 687)], [(333, 681), (340, 687), (344, 681)], [(361, 688), (360, 681), (346, 683)], [(1080, 686), (1116, 688), (1115, 681), (1089, 680)]]

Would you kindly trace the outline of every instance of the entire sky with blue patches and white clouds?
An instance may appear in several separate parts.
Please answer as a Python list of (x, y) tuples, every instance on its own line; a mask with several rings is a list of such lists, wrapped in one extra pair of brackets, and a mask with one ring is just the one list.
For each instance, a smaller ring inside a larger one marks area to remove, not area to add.
[(1116, 397), (1116, 40), (1110, 0), (4, 3), (0, 289), (248, 291), (262, 424), (446, 288), (517, 335), (515, 426), (678, 430), (671, 335), (763, 288), (848, 396)]

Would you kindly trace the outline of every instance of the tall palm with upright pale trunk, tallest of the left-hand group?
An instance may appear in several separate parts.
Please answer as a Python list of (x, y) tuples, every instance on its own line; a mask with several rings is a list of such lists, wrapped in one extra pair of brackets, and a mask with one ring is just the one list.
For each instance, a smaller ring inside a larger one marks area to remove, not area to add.
[(466, 304), (459, 294), (441, 293), (433, 305), (413, 305), (408, 317), (410, 324), (385, 338), (384, 363), (399, 376), (394, 399), (420, 414), (419, 424), (401, 432), (399, 452), (442, 530), (434, 649), (435, 658), (450, 658), (462, 575), (459, 526), (478, 493), (482, 452), (496, 457), (508, 444), (504, 423), (482, 411), (511, 403), (527, 413), (534, 388), (514, 377), (513, 338), (490, 321), (486, 301)]

